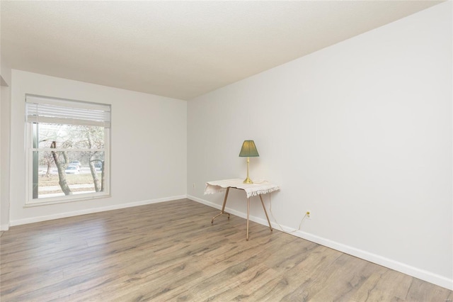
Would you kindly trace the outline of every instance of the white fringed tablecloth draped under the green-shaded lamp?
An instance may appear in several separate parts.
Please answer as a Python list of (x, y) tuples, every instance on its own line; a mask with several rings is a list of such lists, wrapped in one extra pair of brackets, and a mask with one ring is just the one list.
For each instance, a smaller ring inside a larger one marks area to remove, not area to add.
[(244, 184), (243, 179), (224, 179), (207, 181), (205, 194), (224, 192), (228, 187), (246, 191), (247, 198), (280, 190), (280, 186), (270, 184), (268, 181), (253, 181), (253, 184)]

